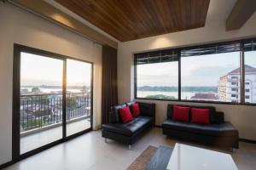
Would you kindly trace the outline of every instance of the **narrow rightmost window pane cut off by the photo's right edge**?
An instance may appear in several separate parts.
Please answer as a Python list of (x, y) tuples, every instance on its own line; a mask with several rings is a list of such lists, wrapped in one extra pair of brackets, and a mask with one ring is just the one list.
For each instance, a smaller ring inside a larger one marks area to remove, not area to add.
[(245, 102), (256, 103), (256, 51), (244, 53)]

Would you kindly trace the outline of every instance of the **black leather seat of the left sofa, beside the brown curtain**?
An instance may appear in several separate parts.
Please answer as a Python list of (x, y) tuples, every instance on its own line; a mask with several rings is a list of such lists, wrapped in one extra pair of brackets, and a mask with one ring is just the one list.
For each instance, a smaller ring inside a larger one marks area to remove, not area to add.
[(106, 123), (102, 125), (104, 130), (111, 131), (113, 133), (121, 133), (126, 136), (132, 136), (134, 133), (139, 132), (145, 127), (151, 126), (153, 119), (150, 116), (138, 116), (131, 122), (125, 123)]

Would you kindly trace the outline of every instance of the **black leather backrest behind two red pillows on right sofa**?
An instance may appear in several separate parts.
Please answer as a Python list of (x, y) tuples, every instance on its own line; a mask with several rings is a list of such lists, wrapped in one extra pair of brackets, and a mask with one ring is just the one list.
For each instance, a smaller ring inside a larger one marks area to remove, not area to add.
[[(215, 107), (213, 106), (202, 106), (202, 105), (178, 105), (178, 106), (187, 106), (190, 108), (199, 108), (199, 109), (208, 109), (210, 111), (210, 122), (211, 123), (219, 123), (223, 121), (223, 117), (217, 116), (217, 112)], [(167, 106), (167, 117), (172, 118), (173, 114), (173, 105), (169, 104)], [(189, 120), (190, 120), (191, 114), (189, 114)], [(221, 119), (221, 120), (218, 120)]]

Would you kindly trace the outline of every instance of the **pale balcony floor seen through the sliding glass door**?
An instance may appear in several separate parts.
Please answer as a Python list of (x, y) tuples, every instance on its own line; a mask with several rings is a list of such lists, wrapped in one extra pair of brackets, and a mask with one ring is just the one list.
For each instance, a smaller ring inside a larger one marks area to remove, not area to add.
[[(67, 136), (79, 133), (90, 128), (90, 120), (83, 119), (77, 122), (67, 123)], [(62, 127), (53, 127), (42, 132), (30, 134), (20, 138), (20, 153), (34, 150), (44, 144), (49, 144), (62, 138)]]

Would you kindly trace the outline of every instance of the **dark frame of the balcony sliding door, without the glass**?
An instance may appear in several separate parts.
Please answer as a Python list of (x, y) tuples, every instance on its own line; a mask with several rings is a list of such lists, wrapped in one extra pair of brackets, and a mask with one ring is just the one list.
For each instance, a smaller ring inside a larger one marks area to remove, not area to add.
[[(68, 55), (63, 54), (56, 54), (53, 52), (46, 51), (44, 49), (39, 48), (32, 48), (25, 45), (21, 45), (18, 43), (14, 43), (14, 61), (13, 61), (13, 99), (12, 99), (12, 161), (17, 162), (26, 157), (36, 155), (44, 150), (47, 150), (57, 144), (64, 143), (68, 140), (74, 139), (83, 135), (84, 133), (88, 133), (92, 131), (93, 127), (93, 81), (94, 81), (94, 63), (85, 59), (78, 59), (74, 57), (70, 57)], [(90, 76), (90, 128), (80, 131), (79, 133), (74, 133), (72, 135), (67, 136), (67, 118), (66, 118), (66, 109), (62, 111), (62, 138), (55, 140), (49, 144), (44, 144), (43, 146), (38, 147), (37, 149), (30, 150), (26, 153), (20, 153), (20, 54), (21, 52), (29, 53), (29, 54), (36, 54), (36, 55), (43, 55), (48, 58), (52, 59), (61, 59), (63, 61), (63, 80), (62, 80), (62, 108), (66, 108), (67, 101), (66, 101), (66, 94), (67, 94), (67, 59), (73, 59), (77, 61), (81, 61), (84, 63), (88, 63), (91, 65), (91, 76)], [(19, 113), (19, 114), (17, 114)]]

